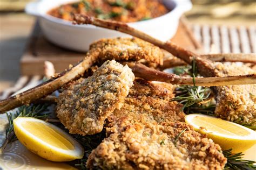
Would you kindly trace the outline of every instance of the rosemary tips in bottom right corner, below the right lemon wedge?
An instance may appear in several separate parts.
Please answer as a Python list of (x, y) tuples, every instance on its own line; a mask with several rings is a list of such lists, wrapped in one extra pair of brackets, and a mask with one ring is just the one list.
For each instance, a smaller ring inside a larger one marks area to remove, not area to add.
[(242, 159), (242, 154), (232, 154), (232, 149), (223, 151), (224, 157), (227, 158), (227, 164), (225, 165), (225, 169), (256, 169), (256, 162), (252, 160)]

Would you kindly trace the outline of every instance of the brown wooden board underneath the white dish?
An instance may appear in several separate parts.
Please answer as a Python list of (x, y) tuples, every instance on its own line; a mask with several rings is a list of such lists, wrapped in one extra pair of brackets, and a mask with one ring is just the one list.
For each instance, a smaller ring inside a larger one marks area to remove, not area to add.
[[(194, 38), (185, 18), (180, 19), (177, 33), (171, 41), (192, 51), (202, 49), (199, 42)], [(44, 75), (44, 61), (52, 62), (56, 72), (59, 73), (69, 68), (70, 64), (74, 65), (82, 60), (84, 56), (85, 53), (70, 51), (46, 40), (38, 22), (36, 22), (21, 59), (21, 73), (28, 76)]]

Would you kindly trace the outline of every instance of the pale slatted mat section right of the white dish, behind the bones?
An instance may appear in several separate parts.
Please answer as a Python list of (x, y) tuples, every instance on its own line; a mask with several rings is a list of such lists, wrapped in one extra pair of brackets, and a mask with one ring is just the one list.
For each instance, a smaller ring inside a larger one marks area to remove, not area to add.
[(256, 53), (256, 29), (253, 26), (193, 25), (192, 28), (205, 53)]

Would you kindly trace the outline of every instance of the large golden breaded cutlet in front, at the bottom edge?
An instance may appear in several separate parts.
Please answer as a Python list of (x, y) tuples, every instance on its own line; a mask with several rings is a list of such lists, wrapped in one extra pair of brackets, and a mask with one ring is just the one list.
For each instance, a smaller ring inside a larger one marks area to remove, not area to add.
[(121, 117), (107, 136), (90, 154), (87, 168), (223, 169), (226, 164), (219, 145), (183, 122), (159, 125)]

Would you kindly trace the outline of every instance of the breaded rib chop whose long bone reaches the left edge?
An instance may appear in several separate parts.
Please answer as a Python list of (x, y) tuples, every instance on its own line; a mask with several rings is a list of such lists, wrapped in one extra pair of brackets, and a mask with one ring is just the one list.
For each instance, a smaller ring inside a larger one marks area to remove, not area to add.
[(51, 80), (0, 101), (0, 113), (14, 109), (23, 104), (29, 104), (39, 98), (43, 98), (62, 87), (65, 83), (84, 74), (93, 64), (115, 59), (117, 61), (140, 61), (145, 64), (163, 62), (163, 53), (159, 47), (135, 38), (102, 39), (90, 46), (90, 51), (84, 60), (71, 69), (60, 73)]

